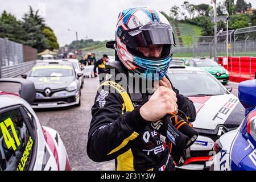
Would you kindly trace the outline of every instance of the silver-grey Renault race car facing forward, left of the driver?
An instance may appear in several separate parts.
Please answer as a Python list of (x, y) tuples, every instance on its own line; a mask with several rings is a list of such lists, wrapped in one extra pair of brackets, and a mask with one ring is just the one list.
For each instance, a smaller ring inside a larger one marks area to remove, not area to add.
[(35, 84), (36, 99), (32, 108), (80, 106), (81, 89), (78, 78), (82, 73), (75, 72), (72, 63), (37, 63), (30, 74), (22, 75)]

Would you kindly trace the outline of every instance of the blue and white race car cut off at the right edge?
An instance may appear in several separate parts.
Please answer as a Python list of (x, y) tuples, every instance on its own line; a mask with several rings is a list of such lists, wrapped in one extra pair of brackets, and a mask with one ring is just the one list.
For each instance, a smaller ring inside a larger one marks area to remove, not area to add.
[(245, 106), (241, 126), (221, 136), (214, 144), (217, 153), (211, 170), (256, 171), (256, 80), (247, 80), (238, 86), (238, 96)]

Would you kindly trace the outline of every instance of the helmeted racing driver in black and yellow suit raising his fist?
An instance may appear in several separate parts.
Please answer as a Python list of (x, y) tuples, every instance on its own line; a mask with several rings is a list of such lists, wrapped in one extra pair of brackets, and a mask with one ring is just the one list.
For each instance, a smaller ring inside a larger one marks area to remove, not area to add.
[(135, 88), (128, 81), (125, 89), (112, 78), (99, 86), (87, 144), (87, 154), (94, 162), (115, 159), (115, 169), (125, 171), (175, 169), (170, 146), (158, 129), (166, 114), (179, 109), (193, 122), (196, 110), (166, 76), (172, 46), (172, 27), (158, 11), (137, 7), (119, 13), (115, 41), (106, 44), (115, 49), (116, 61), (109, 68), (127, 79), (132, 73), (140, 82), (152, 81), (154, 92), (147, 86)]

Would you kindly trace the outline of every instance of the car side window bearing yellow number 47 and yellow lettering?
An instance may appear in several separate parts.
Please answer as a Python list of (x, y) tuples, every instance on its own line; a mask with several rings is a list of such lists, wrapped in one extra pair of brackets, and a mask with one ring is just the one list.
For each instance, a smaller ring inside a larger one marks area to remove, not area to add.
[(19, 107), (0, 113), (0, 170), (23, 171), (30, 167), (35, 142), (25, 117)]

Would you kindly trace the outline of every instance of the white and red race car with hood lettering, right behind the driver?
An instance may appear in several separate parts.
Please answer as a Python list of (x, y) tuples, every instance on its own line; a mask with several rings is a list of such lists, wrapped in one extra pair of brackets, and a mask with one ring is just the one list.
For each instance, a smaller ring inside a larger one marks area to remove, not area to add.
[[(214, 142), (224, 133), (237, 129), (243, 118), (243, 106), (215, 77), (204, 69), (172, 65), (167, 72), (172, 84), (193, 101), (199, 133), (196, 142), (186, 150), (187, 161), (181, 169), (209, 169)], [(232, 88), (229, 88), (230, 91)]]

